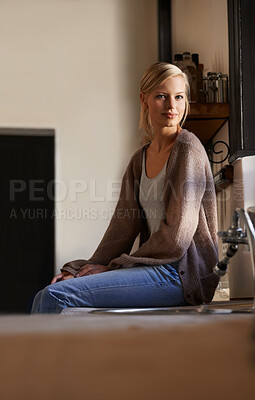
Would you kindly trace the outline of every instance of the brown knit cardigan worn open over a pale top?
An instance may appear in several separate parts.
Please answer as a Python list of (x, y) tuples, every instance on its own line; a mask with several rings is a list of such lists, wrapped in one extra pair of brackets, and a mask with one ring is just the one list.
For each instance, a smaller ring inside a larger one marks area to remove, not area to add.
[[(66, 263), (62, 271), (75, 274), (85, 264), (109, 270), (139, 265), (171, 264), (179, 260), (184, 296), (191, 304), (208, 303), (218, 284), (213, 266), (218, 261), (217, 210), (210, 164), (199, 139), (182, 130), (167, 161), (164, 185), (166, 219), (149, 237), (139, 204), (143, 149), (131, 158), (120, 197), (98, 248), (89, 260)], [(140, 246), (130, 255), (140, 233)]]

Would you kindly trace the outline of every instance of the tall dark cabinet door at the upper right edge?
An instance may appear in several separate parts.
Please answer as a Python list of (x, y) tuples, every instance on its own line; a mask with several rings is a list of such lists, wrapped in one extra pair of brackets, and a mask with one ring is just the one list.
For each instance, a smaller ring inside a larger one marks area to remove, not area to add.
[(228, 0), (230, 161), (255, 154), (254, 21), (254, 0)]

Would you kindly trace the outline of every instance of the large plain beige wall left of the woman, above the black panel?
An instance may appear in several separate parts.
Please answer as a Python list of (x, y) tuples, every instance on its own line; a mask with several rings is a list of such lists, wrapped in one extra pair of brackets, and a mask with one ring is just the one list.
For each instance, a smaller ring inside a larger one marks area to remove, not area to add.
[(157, 59), (156, 3), (0, 1), (0, 126), (56, 130), (57, 270), (95, 249), (116, 201), (111, 181), (138, 147), (139, 81)]

